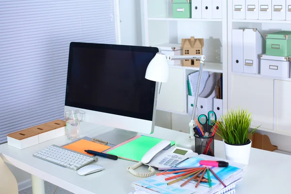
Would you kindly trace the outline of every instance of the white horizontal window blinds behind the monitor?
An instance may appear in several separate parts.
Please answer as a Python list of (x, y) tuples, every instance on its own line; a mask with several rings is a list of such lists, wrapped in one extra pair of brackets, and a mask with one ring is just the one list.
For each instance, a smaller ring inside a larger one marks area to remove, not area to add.
[(0, 143), (64, 119), (70, 42), (115, 35), (113, 0), (0, 0)]

